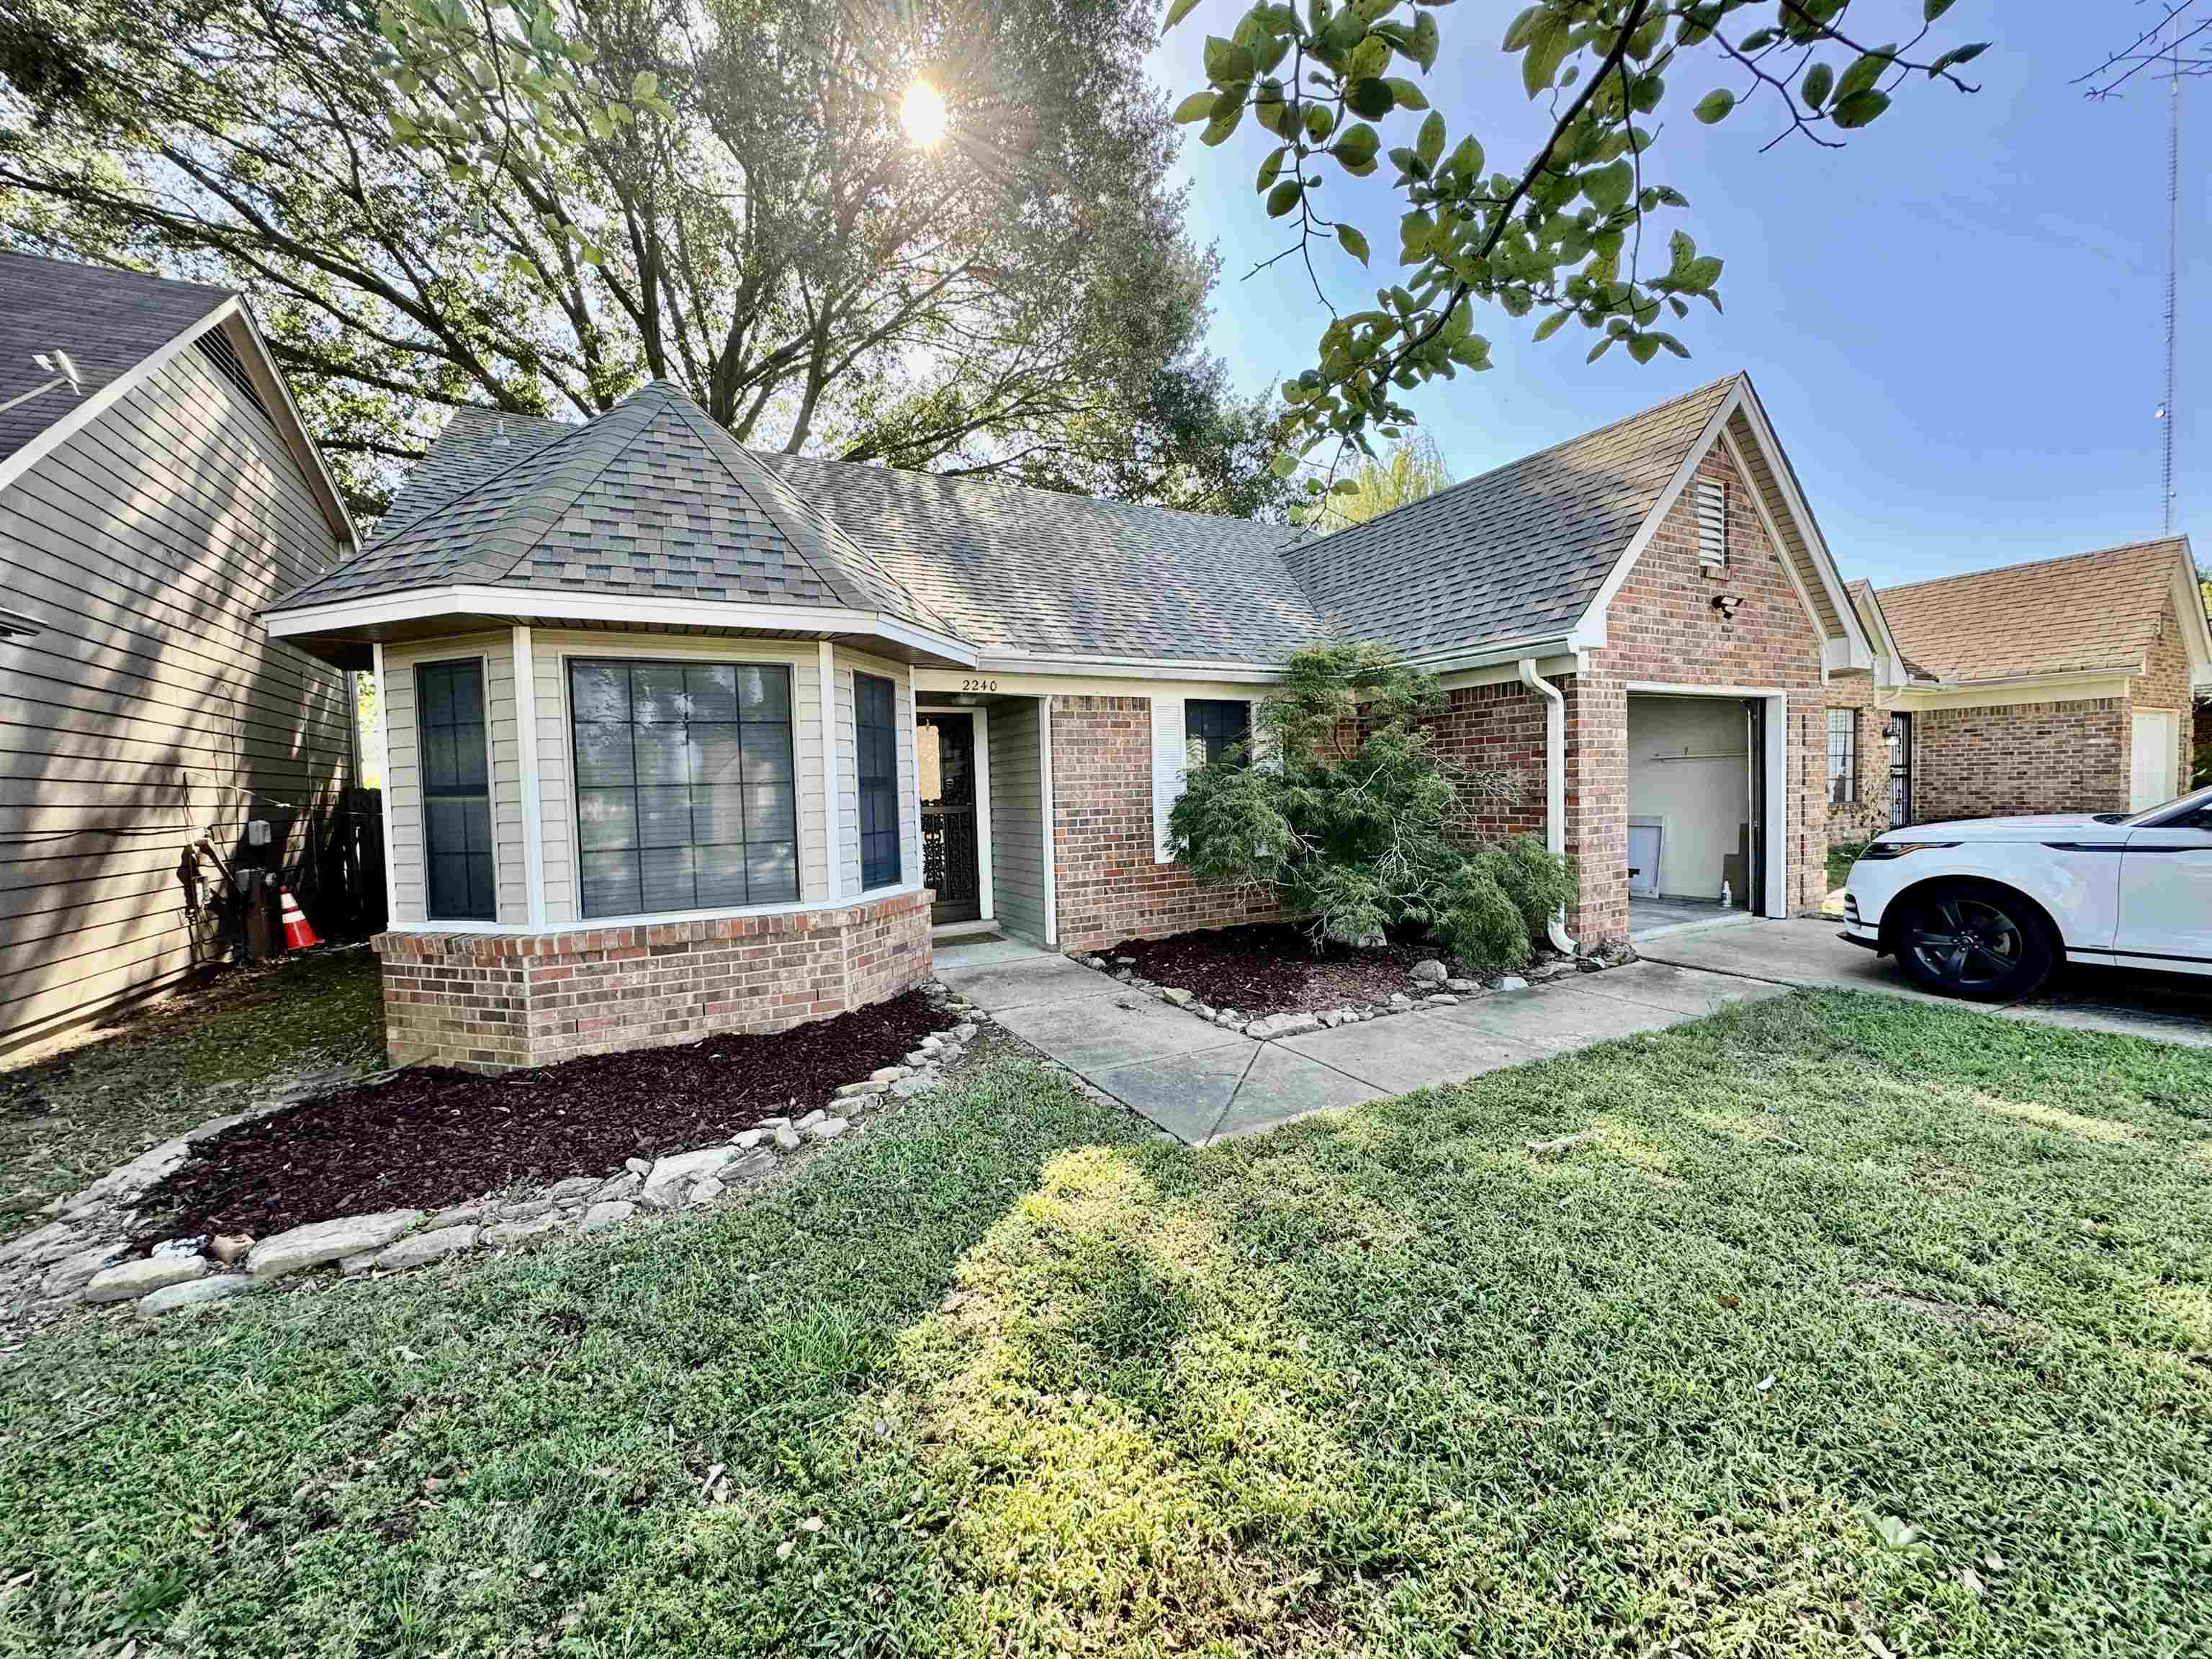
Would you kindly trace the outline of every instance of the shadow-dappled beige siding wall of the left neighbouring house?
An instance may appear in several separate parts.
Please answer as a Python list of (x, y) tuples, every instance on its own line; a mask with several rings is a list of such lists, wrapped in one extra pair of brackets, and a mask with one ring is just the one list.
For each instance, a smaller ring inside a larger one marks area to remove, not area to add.
[(257, 611), (336, 557), (276, 429), (181, 352), (0, 491), (0, 1048), (195, 962), (201, 830), (310, 825), (345, 783), (345, 677)]

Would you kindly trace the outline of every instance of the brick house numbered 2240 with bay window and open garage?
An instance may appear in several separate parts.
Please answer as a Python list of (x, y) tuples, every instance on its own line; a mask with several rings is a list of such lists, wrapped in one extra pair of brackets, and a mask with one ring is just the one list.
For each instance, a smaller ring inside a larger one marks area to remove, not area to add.
[(1825, 686), (1874, 646), (1732, 376), (1312, 540), (752, 453), (670, 385), (460, 411), (376, 542), (268, 613), (383, 686), (394, 1060), (781, 1029), (991, 927), (1099, 947), (1265, 914), (1166, 858), (1283, 659), (1383, 639), (1467, 830), (1575, 854), (1584, 945), (1670, 898), (1818, 902)]

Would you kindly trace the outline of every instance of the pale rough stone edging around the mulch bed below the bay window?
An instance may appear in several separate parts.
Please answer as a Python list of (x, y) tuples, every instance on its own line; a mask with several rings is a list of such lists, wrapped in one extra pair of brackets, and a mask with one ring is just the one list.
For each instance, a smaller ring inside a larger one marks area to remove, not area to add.
[(790, 1159), (860, 1133), (891, 1099), (911, 1099), (940, 1086), (945, 1073), (962, 1062), (991, 1015), (940, 980), (931, 980), (927, 991), (945, 1013), (945, 1029), (922, 1037), (905, 1064), (849, 1082), (834, 1099), (799, 1117), (763, 1117), (728, 1141), (657, 1159), (633, 1157), (606, 1175), (568, 1175), (538, 1190), (484, 1194), (431, 1214), (385, 1210), (330, 1217), (268, 1239), (170, 1239), (146, 1256), (131, 1256), (126, 1237), (135, 1221), (133, 1206), (190, 1157), (192, 1144), (246, 1117), (310, 1099), (319, 1093), (312, 1084), (336, 1088), (365, 1082), (358, 1073), (312, 1079), (310, 1086), (254, 1102), (246, 1113), (164, 1141), (71, 1199), (49, 1206), (53, 1221), (0, 1243), (0, 1310), (9, 1323), (31, 1325), (77, 1305), (128, 1305), (139, 1316), (159, 1318), (173, 1310), (212, 1307), (252, 1290), (299, 1283), (323, 1267), (336, 1267), (347, 1279), (383, 1279), (555, 1232), (608, 1232), (639, 1212), (741, 1201)]

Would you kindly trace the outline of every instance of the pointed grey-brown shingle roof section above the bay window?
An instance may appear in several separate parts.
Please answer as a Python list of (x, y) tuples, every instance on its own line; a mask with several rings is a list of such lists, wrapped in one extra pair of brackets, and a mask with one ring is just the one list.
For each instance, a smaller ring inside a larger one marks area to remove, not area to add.
[(500, 436), (495, 416), (462, 422), (376, 542), (283, 604), (476, 584), (845, 606), (945, 630), (668, 383), (584, 425), (509, 416)]

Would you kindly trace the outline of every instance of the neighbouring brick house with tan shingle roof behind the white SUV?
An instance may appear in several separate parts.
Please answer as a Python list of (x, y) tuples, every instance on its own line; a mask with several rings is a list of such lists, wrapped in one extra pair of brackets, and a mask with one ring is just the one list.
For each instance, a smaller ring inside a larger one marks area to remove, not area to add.
[(2190, 787), (2212, 633), (2185, 535), (1876, 591), (1829, 679), (1838, 841), (1940, 818), (2139, 812)]

